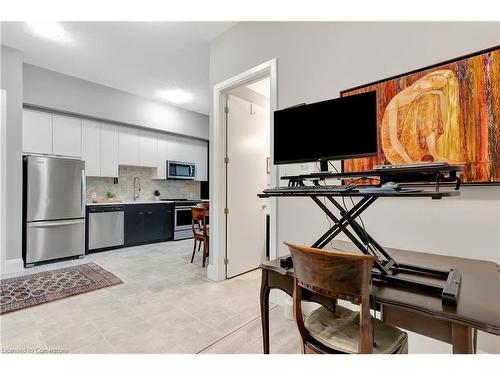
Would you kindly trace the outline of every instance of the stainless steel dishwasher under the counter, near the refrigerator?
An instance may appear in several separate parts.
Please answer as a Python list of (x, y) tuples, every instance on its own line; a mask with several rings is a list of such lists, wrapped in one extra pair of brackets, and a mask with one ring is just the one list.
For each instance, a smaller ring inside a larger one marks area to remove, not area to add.
[(90, 206), (88, 208), (88, 250), (95, 251), (123, 246), (123, 205)]

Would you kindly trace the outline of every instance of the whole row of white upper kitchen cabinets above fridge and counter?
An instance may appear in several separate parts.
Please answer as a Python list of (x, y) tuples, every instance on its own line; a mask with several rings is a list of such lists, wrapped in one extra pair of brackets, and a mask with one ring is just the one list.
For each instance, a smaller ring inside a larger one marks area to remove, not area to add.
[(206, 141), (30, 109), (23, 110), (23, 152), (81, 157), (94, 177), (118, 177), (118, 166), (130, 165), (165, 179), (172, 160), (195, 163), (195, 180), (208, 178)]

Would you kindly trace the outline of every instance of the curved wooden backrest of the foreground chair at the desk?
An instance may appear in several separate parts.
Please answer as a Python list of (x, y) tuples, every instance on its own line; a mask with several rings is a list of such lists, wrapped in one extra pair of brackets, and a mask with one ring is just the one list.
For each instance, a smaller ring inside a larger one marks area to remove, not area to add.
[(308, 332), (304, 327), (300, 301), (302, 289), (307, 289), (327, 297), (360, 304), (359, 352), (371, 353), (373, 336), (369, 283), (373, 262), (377, 257), (285, 244), (293, 259), (294, 313), (303, 340), (308, 337)]

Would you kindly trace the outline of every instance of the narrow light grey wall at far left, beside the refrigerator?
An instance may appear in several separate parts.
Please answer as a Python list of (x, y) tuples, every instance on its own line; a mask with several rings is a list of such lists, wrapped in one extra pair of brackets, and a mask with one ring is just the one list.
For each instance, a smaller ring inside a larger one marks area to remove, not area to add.
[[(23, 56), (21, 51), (1, 46), (1, 88), (6, 92), (7, 116), (5, 127), (5, 194), (6, 239), (5, 258), (10, 270), (22, 267), (22, 108), (23, 108)], [(3, 133), (2, 133), (3, 136)], [(10, 261), (10, 262), (9, 262)]]

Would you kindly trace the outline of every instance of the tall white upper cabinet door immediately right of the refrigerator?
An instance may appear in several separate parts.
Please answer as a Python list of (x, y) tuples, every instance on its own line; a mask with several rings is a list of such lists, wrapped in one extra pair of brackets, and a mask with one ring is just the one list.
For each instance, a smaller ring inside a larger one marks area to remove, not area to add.
[(101, 124), (82, 120), (82, 159), (85, 160), (85, 174), (101, 175)]

